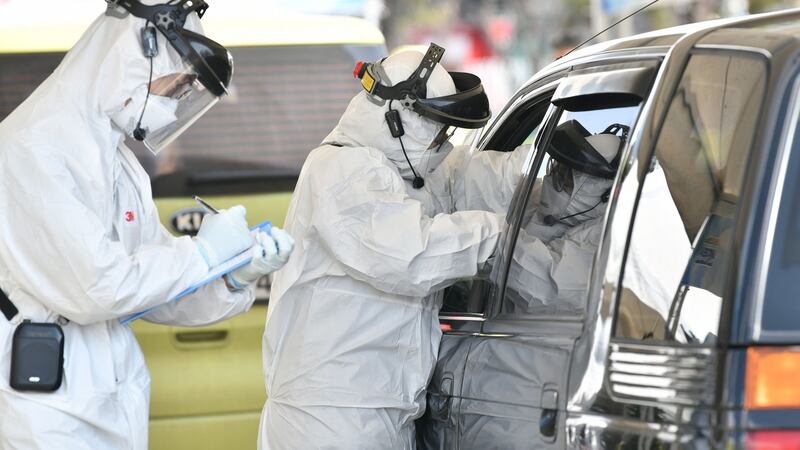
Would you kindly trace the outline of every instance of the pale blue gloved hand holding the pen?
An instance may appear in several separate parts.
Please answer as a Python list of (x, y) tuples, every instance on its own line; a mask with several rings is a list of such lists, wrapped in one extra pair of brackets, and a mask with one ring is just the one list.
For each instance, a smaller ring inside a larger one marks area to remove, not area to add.
[(203, 217), (194, 243), (209, 267), (217, 266), (253, 245), (245, 214), (244, 206), (237, 205)]

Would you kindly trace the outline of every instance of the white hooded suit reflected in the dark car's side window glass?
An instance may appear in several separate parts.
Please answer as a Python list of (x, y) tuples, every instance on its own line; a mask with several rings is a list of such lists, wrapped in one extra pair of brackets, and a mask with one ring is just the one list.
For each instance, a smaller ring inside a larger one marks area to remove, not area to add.
[[(620, 138), (611, 134), (589, 136), (587, 141), (607, 161), (620, 148)], [(507, 297), (522, 313), (542, 307), (581, 310), (600, 245), (613, 180), (573, 169), (568, 190), (559, 189), (555, 176), (548, 173), (532, 192), (529, 201), (534, 203), (526, 208), (529, 217), (523, 219), (509, 268)]]

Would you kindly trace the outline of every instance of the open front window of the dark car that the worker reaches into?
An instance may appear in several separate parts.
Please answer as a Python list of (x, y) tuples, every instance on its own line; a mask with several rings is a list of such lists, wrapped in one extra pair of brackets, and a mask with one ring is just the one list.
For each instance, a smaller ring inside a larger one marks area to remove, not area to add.
[[(500, 157), (500, 152), (503, 152), (508, 158), (505, 158), (506, 161), (502, 164), (514, 165), (514, 167), (507, 168), (509, 170), (506, 172), (521, 174), (527, 161), (526, 156), (530, 152), (530, 145), (536, 139), (547, 109), (550, 107), (551, 95), (552, 91), (539, 95), (514, 110), (500, 125), (493, 138), (488, 142), (486, 150), (484, 150), (496, 154), (487, 154), (485, 156), (490, 156), (496, 163), (496, 157)], [(510, 153), (515, 151), (521, 152), (521, 154), (514, 155)], [(486, 162), (489, 161), (490, 159), (486, 160)], [(491, 180), (492, 184), (489, 186), (492, 189), (508, 191), (504, 193), (506, 195), (497, 195), (497, 197), (508, 198), (510, 203), (513, 191), (517, 188), (517, 183), (509, 183), (508, 181), (506, 179)], [(494, 197), (494, 195), (491, 196)], [(474, 205), (470, 206), (472, 209), (475, 208)], [(496, 207), (502, 207), (503, 211), (507, 210), (508, 206), (496, 205)], [(447, 288), (444, 292), (441, 312), (445, 314), (454, 312), (482, 314), (486, 308), (486, 301), (495, 286), (495, 283), (490, 280), (493, 263), (494, 261), (490, 260), (490, 262), (481, 267), (476, 277), (461, 280)]]

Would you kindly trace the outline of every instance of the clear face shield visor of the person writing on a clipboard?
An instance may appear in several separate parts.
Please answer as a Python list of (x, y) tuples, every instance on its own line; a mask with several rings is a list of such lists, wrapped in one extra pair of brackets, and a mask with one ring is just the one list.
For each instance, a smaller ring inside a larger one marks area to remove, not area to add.
[(142, 142), (157, 154), (219, 101), (198, 79), (191, 67), (165, 75), (150, 84), (144, 107)]

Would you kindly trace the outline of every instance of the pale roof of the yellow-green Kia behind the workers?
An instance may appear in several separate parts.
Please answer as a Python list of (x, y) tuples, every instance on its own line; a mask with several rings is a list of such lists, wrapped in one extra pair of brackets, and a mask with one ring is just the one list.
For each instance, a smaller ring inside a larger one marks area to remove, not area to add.
[[(91, 15), (25, 23), (0, 18), (0, 54), (65, 52), (98, 15), (95, 10)], [(208, 36), (228, 47), (385, 44), (376, 26), (357, 17), (209, 12), (202, 23)]]

